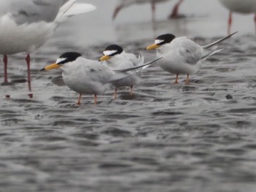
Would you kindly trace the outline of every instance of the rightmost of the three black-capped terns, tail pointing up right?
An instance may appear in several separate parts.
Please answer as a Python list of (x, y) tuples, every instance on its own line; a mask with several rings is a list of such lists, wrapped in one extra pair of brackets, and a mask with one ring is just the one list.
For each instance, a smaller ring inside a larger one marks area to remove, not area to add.
[(201, 61), (221, 51), (217, 50), (217, 47), (209, 50), (208, 53), (206, 50), (230, 38), (233, 34), (204, 46), (198, 45), (187, 37), (162, 34), (155, 39), (153, 45), (146, 47), (146, 50), (157, 50), (157, 56), (162, 57), (159, 66), (167, 72), (176, 74), (175, 83), (178, 83), (179, 74), (187, 74), (186, 83), (189, 84), (189, 74), (195, 74), (200, 69)]

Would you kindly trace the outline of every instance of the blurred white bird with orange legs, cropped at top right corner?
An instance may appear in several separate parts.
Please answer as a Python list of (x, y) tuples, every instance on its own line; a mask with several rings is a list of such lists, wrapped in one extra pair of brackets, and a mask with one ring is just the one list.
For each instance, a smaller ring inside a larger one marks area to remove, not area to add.
[(232, 15), (233, 12), (242, 14), (254, 13), (255, 31), (256, 31), (256, 0), (219, 0), (222, 5), (229, 9), (229, 18), (227, 21), (227, 34), (230, 34), (231, 25), (233, 23)]

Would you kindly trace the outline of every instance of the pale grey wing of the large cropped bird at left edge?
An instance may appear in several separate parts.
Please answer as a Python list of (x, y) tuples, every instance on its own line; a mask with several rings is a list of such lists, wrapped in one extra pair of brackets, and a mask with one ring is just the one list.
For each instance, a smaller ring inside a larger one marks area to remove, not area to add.
[(0, 15), (11, 15), (15, 23), (53, 22), (67, 0), (0, 0)]

